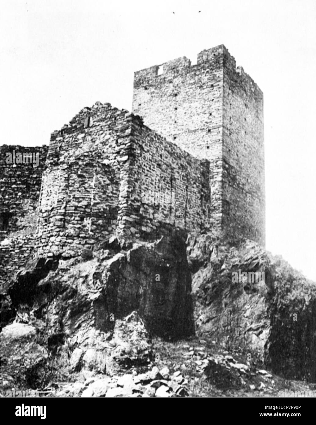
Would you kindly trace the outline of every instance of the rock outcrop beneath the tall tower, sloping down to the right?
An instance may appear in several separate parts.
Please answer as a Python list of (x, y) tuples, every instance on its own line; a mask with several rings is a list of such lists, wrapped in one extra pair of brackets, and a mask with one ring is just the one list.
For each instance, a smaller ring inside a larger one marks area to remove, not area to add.
[(316, 284), (251, 242), (236, 249), (191, 237), (188, 254), (191, 268), (200, 267), (192, 278), (197, 334), (314, 382)]

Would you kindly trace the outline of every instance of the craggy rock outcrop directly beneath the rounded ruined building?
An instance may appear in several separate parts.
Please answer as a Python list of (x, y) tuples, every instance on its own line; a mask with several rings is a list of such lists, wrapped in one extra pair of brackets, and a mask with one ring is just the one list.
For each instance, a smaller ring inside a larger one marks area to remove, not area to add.
[(175, 231), (153, 243), (115, 239), (87, 261), (34, 260), (9, 289), (17, 317), (68, 372), (147, 367), (150, 335), (194, 333), (185, 240)]

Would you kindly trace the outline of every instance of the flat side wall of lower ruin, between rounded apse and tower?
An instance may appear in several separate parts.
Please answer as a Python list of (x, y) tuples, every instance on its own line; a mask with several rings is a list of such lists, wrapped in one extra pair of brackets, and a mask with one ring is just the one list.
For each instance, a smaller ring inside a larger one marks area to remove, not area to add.
[[(209, 162), (168, 142), (137, 117), (133, 117), (131, 140), (130, 218), (126, 229), (130, 227), (132, 235), (144, 238), (160, 235), (165, 225), (188, 230), (208, 227)], [(155, 194), (158, 196), (153, 203), (150, 197)]]

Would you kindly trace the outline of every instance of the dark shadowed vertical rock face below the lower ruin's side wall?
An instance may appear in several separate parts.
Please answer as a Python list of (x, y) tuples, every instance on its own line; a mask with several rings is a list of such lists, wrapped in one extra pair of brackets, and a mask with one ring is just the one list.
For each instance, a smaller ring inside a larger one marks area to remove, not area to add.
[(110, 263), (109, 312), (121, 317), (137, 309), (152, 334), (177, 338), (194, 333), (190, 293), (183, 232), (173, 232), (156, 243), (135, 245)]

